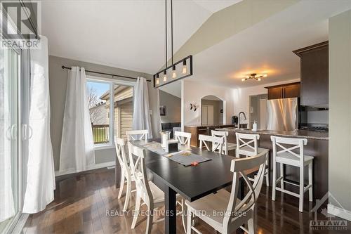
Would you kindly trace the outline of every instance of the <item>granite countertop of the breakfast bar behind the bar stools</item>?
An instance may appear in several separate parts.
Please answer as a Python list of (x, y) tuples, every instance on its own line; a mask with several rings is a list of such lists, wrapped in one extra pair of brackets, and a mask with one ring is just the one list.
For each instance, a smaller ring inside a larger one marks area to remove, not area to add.
[(270, 131), (270, 130), (258, 130), (252, 131), (248, 129), (234, 129), (234, 128), (223, 128), (216, 129), (218, 131), (234, 131), (243, 134), (266, 134), (274, 136), (287, 136), (287, 137), (297, 137), (297, 138), (310, 138), (316, 140), (329, 140), (329, 133), (325, 131), (309, 131), (309, 130), (294, 130), (294, 131)]

